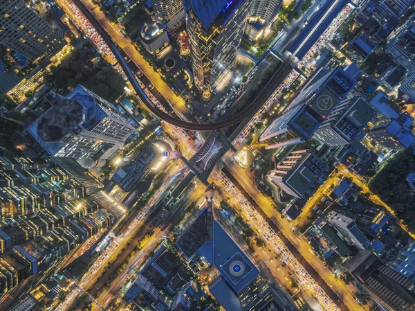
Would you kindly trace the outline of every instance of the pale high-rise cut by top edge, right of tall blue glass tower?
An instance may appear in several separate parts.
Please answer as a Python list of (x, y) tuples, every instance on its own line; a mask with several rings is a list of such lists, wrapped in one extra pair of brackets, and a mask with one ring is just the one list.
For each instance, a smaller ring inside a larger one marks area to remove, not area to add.
[(254, 0), (249, 9), (245, 33), (251, 40), (270, 33), (270, 26), (277, 17), (281, 0)]

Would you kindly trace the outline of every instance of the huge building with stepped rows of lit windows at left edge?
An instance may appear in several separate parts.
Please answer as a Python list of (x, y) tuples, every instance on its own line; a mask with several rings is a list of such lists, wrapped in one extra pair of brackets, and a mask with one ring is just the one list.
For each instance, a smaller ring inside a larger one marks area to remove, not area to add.
[(113, 222), (50, 158), (0, 157), (0, 294)]

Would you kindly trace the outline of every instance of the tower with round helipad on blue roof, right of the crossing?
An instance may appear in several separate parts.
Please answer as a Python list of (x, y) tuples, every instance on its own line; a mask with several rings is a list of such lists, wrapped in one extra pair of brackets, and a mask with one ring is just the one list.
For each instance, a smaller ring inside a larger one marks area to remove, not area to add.
[(320, 69), (311, 77), (283, 114), (277, 117), (259, 137), (268, 143), (266, 149), (303, 143), (310, 139), (323, 121), (354, 87), (350, 71)]

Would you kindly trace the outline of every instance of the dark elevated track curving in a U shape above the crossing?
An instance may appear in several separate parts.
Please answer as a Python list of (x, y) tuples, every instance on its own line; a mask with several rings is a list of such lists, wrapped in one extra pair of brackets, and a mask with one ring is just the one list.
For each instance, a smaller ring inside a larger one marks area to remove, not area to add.
[[(124, 60), (124, 56), (120, 52), (120, 49), (116, 44), (114, 44), (113, 39), (109, 36), (106, 30), (100, 25), (97, 19), (95, 19), (95, 16), (90, 12), (88, 8), (82, 3), (80, 0), (73, 0), (73, 3), (80, 9), (83, 15), (91, 22), (95, 30), (101, 35), (101, 37), (104, 39), (104, 41), (107, 43), (109, 48), (111, 48), (112, 53), (115, 55), (118, 63), (120, 64), (122, 70), (124, 71), (125, 75), (127, 75), (127, 78), (129, 82), (131, 83), (134, 91), (136, 91), (136, 94), (142, 100), (142, 103), (146, 105), (146, 107), (158, 118), (166, 121), (167, 123), (170, 123), (172, 125), (176, 125), (177, 127), (182, 127), (186, 130), (196, 130), (196, 131), (213, 131), (213, 130), (220, 130), (226, 127), (230, 127), (232, 125), (235, 125), (237, 123), (240, 123), (245, 118), (248, 118), (255, 114), (257, 112), (257, 109), (259, 109), (265, 101), (268, 99), (270, 94), (273, 93), (273, 90), (278, 87), (278, 85), (275, 85), (275, 81), (279, 81), (281, 83), (284, 81), (284, 78), (288, 75), (288, 73), (291, 72), (292, 66), (291, 66), (291, 59), (286, 60), (286, 62), (281, 62), (279, 66), (277, 66), (277, 69), (275, 69), (275, 73), (273, 74), (273, 77), (268, 80), (268, 83), (264, 86), (263, 91), (255, 98), (246, 109), (243, 109), (242, 112), (239, 112), (238, 114), (235, 114), (234, 116), (219, 121), (216, 123), (192, 123), (187, 121), (182, 121), (174, 116), (171, 116), (170, 114), (167, 114), (160, 110), (154, 103), (151, 102), (150, 98), (145, 94), (145, 92), (141, 89), (140, 85), (138, 84), (136, 78), (133, 75), (133, 72), (129, 68), (129, 65), (127, 64), (127, 61)], [(122, 35), (122, 34), (120, 34)]]

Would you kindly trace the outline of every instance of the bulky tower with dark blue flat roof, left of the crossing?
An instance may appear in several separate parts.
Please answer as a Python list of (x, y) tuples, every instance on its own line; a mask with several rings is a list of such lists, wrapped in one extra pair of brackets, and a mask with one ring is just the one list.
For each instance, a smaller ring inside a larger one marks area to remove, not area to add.
[(134, 131), (111, 103), (80, 85), (46, 99), (52, 107), (28, 132), (53, 157), (109, 159)]

